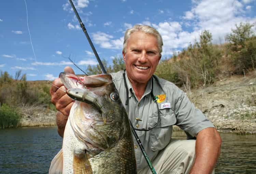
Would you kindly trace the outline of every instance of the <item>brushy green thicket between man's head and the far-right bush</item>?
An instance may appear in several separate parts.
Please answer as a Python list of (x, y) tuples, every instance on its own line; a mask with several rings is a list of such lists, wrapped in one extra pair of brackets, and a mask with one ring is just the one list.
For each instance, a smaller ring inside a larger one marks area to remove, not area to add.
[(185, 90), (211, 84), (218, 75), (221, 59), (221, 49), (213, 45), (211, 40), (212, 34), (203, 31), (199, 42), (190, 44), (187, 50), (174, 55), (171, 60), (162, 61), (156, 72)]

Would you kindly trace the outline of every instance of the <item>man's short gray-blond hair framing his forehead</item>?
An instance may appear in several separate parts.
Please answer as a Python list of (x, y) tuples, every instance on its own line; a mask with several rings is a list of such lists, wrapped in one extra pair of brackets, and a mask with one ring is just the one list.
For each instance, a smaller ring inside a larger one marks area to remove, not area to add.
[(157, 39), (157, 43), (158, 43), (158, 50), (159, 50), (159, 53), (161, 54), (163, 40), (162, 40), (162, 36), (159, 34), (159, 32), (155, 28), (150, 27), (148, 25), (138, 25), (138, 24), (134, 25), (130, 29), (127, 29), (125, 32), (124, 44), (123, 44), (123, 52), (124, 53), (126, 52), (127, 40), (130, 37), (130, 35), (134, 32), (144, 32), (144, 33), (152, 34), (153, 36), (155, 36)]

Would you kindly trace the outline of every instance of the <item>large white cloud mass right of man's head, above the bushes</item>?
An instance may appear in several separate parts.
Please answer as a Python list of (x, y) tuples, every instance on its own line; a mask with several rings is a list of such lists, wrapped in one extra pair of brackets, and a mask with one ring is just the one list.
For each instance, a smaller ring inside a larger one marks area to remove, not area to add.
[[(213, 42), (217, 42), (219, 38), (224, 40), (225, 35), (231, 32), (231, 28), (235, 28), (235, 24), (245, 21), (253, 23), (256, 20), (256, 17), (245, 17), (243, 10), (245, 6), (238, 0), (195, 0), (192, 2), (191, 10), (185, 12), (182, 17), (186, 21), (151, 23), (162, 35), (163, 55), (172, 54), (194, 43), (195, 39), (199, 40), (199, 35), (203, 30), (209, 30), (212, 33)], [(189, 26), (192, 31), (184, 31), (183, 26)]]

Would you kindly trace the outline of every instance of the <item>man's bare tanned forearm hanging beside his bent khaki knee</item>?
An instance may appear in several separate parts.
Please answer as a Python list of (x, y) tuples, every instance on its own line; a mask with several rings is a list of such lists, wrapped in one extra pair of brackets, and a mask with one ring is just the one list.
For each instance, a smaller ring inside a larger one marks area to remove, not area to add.
[(213, 127), (201, 130), (196, 140), (196, 157), (190, 174), (211, 174), (221, 153), (221, 136)]

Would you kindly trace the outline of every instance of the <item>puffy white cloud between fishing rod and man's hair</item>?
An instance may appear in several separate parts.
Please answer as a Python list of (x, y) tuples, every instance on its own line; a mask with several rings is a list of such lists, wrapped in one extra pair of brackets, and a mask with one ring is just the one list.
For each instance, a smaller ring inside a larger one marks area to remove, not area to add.
[(113, 39), (112, 35), (97, 32), (93, 33), (93, 40), (96, 44), (99, 44), (101, 48), (122, 49), (124, 38)]

